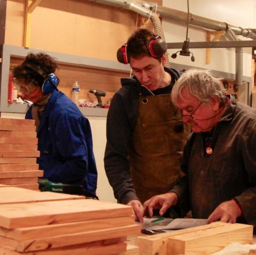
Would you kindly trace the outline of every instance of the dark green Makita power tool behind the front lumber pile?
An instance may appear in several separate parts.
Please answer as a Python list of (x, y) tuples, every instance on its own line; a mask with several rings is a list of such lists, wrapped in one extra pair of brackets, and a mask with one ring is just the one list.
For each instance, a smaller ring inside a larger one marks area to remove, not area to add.
[(98, 196), (90, 191), (84, 190), (82, 185), (78, 184), (63, 184), (54, 183), (49, 179), (38, 178), (39, 190), (41, 191), (51, 191), (57, 193), (66, 193), (72, 195), (82, 195), (86, 196), (86, 199), (98, 199)]

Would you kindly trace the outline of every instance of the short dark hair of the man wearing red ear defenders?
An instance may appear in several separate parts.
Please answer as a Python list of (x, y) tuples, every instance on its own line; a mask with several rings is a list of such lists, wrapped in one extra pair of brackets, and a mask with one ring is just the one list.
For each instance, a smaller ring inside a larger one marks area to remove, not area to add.
[[(130, 61), (130, 57), (142, 57), (142, 56), (151, 56), (149, 52), (149, 43), (153, 40), (157, 35), (154, 32), (150, 31), (146, 28), (140, 28), (133, 32), (133, 34), (127, 40), (127, 56)], [(161, 57), (157, 57), (159, 61), (161, 61)]]

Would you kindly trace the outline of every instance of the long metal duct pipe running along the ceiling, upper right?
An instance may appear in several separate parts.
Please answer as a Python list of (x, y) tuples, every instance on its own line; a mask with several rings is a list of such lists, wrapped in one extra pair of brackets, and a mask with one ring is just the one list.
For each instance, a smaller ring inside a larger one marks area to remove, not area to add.
[[(162, 5), (157, 5), (152, 2), (146, 2), (141, 0), (132, 0), (132, 1), (130, 0), (86, 0), (86, 1), (106, 4), (106, 5), (115, 6), (115, 7), (124, 8), (124, 9), (130, 9), (130, 6), (132, 3), (137, 3), (143, 7), (146, 7), (151, 11), (156, 11), (162, 18), (170, 19), (182, 24), (187, 23), (187, 15), (188, 15), (187, 12), (174, 10), (168, 7), (164, 7)], [(226, 22), (207, 19), (198, 15), (194, 15), (192, 13), (189, 13), (189, 24), (197, 27), (216, 30), (216, 31), (226, 31), (227, 29), (230, 29), (233, 32), (235, 32), (236, 35), (241, 35), (251, 39), (256, 39), (256, 29), (236, 27)]]

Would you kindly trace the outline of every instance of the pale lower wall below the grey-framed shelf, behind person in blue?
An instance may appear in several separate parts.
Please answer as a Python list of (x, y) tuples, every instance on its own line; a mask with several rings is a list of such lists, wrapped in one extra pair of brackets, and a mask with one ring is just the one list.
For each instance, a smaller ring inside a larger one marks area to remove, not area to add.
[[(25, 113), (4, 113), (1, 118), (24, 119)], [(87, 117), (92, 128), (93, 152), (98, 170), (97, 195), (102, 201), (116, 202), (113, 189), (109, 185), (104, 169), (104, 153), (106, 146), (106, 117)]]

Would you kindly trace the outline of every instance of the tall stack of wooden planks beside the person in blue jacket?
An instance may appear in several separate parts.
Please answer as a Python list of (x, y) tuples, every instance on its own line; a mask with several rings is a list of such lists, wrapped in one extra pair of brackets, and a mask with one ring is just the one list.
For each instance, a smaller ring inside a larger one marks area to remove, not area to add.
[(38, 190), (35, 120), (0, 118), (0, 184)]

